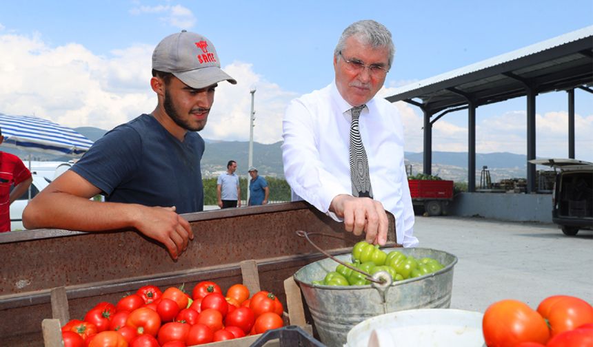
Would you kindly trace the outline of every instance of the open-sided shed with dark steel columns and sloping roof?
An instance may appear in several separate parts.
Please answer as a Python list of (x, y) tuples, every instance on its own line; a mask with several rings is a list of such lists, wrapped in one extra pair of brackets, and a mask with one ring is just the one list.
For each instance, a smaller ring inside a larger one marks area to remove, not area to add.
[[(527, 193), (535, 192), (536, 96), (568, 93), (568, 156), (574, 158), (574, 89), (593, 93), (593, 25), (554, 39), (400, 87), (386, 99), (420, 107), (424, 115), (423, 171), (431, 174), (432, 125), (468, 109), (468, 191), (476, 189), (476, 108), (527, 98)], [(441, 112), (439, 114), (439, 112)]]

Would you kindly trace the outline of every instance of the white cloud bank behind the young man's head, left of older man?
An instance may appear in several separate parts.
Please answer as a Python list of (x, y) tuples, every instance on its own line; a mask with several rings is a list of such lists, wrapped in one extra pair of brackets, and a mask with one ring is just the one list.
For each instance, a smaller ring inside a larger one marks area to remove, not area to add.
[[(82, 45), (52, 48), (39, 36), (0, 35), (0, 112), (35, 114), (69, 127), (111, 129), (152, 112), (150, 89), (153, 48), (133, 45), (96, 56)], [(223, 67), (237, 85), (219, 83), (208, 125), (201, 133), (214, 140), (248, 140), (250, 90), (255, 93), (254, 140), (281, 140), (285, 105), (297, 96), (256, 74), (252, 65)]]

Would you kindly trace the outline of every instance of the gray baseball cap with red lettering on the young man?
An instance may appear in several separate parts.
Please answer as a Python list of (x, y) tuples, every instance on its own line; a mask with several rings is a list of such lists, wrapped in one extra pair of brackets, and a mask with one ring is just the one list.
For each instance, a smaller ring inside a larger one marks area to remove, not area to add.
[(152, 68), (170, 72), (181, 82), (196, 89), (220, 81), (237, 84), (234, 78), (221, 70), (219, 56), (212, 42), (200, 34), (185, 30), (165, 37), (154, 48)]

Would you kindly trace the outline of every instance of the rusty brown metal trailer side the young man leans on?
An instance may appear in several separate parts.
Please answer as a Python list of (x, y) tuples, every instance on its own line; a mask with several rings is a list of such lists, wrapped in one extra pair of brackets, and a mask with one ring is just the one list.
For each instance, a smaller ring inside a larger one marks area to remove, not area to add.
[[(117, 302), (145, 284), (193, 288), (214, 280), (223, 290), (242, 281), (243, 260), (255, 260), (261, 288), (278, 295), (283, 281), (323, 258), (295, 231), (341, 238), (316, 238), (332, 254), (346, 253), (360, 236), (343, 232), (306, 202), (205, 211), (183, 215), (194, 232), (188, 249), (173, 261), (161, 244), (134, 230), (85, 233), (36, 229), (0, 234), (0, 340), (6, 346), (41, 346), (41, 322), (52, 317), (52, 288), (64, 287), (71, 318), (95, 304)], [(390, 217), (388, 246), (395, 246)], [(285, 306), (286, 307), (286, 306)], [(307, 308), (305, 306), (305, 313)]]

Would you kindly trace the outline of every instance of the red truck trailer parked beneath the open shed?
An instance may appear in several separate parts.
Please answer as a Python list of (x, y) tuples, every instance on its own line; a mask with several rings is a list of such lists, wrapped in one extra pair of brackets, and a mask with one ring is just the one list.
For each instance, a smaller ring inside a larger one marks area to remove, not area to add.
[(428, 215), (441, 215), (453, 201), (452, 180), (408, 180), (414, 206), (423, 206)]

